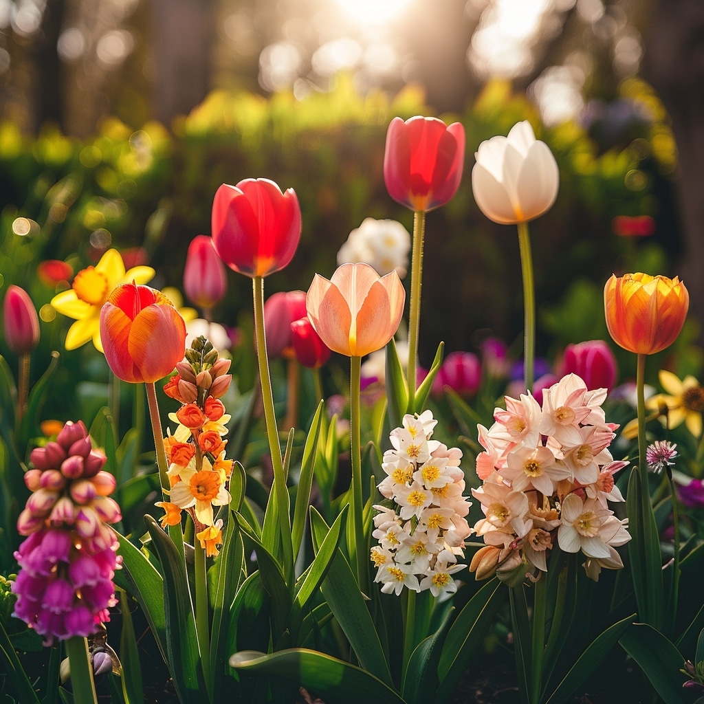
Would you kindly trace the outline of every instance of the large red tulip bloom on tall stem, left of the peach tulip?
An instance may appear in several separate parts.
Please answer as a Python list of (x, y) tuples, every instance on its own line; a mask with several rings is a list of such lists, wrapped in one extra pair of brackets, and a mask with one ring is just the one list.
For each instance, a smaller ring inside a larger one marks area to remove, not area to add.
[(213, 200), (213, 245), (234, 271), (249, 277), (283, 269), (301, 239), (301, 208), (294, 189), (267, 179), (222, 184)]

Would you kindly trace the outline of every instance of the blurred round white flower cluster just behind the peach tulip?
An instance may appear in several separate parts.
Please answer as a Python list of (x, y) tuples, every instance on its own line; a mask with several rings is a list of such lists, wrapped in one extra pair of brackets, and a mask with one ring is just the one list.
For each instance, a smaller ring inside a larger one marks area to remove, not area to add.
[(375, 268), (379, 276), (395, 269), (403, 278), (408, 269), (409, 251), (410, 234), (401, 222), (365, 218), (340, 247), (337, 264), (365, 262)]

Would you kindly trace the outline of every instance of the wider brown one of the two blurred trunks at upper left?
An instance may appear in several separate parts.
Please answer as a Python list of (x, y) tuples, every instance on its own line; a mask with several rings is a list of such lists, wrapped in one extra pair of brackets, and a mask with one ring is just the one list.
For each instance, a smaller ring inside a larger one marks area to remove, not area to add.
[(166, 125), (189, 113), (208, 92), (211, 6), (211, 0), (151, 0), (153, 115)]

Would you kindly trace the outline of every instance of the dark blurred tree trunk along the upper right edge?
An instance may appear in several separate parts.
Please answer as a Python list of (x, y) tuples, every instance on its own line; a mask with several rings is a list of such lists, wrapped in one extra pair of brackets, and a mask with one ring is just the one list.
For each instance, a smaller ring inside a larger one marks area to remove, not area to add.
[(704, 2), (655, 0), (643, 77), (672, 118), (679, 157), (679, 199), (685, 252), (677, 272), (690, 310), (704, 321)]

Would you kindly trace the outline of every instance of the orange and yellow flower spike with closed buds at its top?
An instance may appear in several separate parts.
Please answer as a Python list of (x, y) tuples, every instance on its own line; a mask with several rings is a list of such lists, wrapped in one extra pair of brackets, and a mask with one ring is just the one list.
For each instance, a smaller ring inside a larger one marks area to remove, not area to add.
[(178, 425), (164, 440), (170, 501), (156, 505), (165, 511), (164, 527), (179, 524), (182, 510), (187, 510), (196, 538), (211, 557), (222, 544), (222, 520), (215, 520), (213, 506), (230, 503), (227, 484), (232, 460), (225, 458), (227, 440), (223, 439), (230, 415), (220, 401), (232, 379), (227, 373), (230, 360), (220, 359), (210, 342), (198, 337), (176, 368), (177, 374), (164, 386), (168, 396), (182, 403), (176, 413), (169, 414)]

